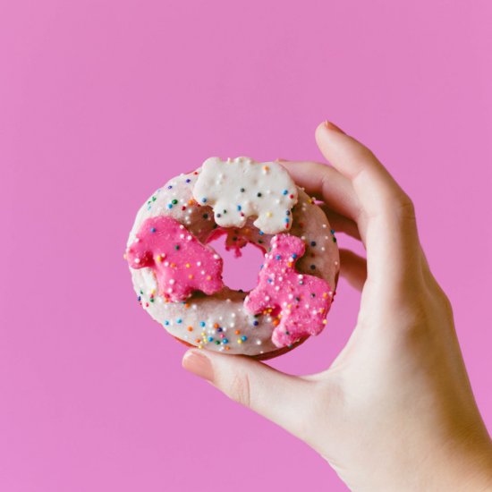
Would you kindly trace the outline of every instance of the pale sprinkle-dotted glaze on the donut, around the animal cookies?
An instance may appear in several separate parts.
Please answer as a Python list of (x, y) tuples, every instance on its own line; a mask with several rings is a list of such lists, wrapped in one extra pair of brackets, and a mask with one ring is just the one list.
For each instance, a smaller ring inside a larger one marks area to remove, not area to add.
[[(135, 242), (149, 217), (168, 216), (184, 225), (203, 244), (224, 234), (226, 246), (237, 254), (247, 243), (267, 253), (272, 235), (259, 231), (252, 218), (242, 228), (223, 229), (216, 225), (212, 208), (193, 199), (193, 186), (200, 172), (199, 168), (176, 176), (150, 196), (137, 214), (127, 247)], [(297, 192), (298, 201), (292, 210), (293, 225), (289, 233), (299, 237), (306, 248), (297, 261), (297, 270), (300, 274), (317, 276), (329, 285), (336, 285), (339, 258), (334, 232), (315, 200), (299, 188)], [(207, 350), (257, 357), (278, 350), (272, 341), (276, 317), (271, 313), (253, 315), (246, 310), (243, 304), (247, 293), (225, 286), (213, 295), (195, 292), (185, 301), (168, 302), (157, 295), (157, 276), (151, 267), (130, 268), (130, 271), (141, 307), (182, 341)]]

